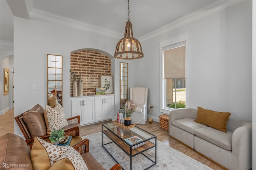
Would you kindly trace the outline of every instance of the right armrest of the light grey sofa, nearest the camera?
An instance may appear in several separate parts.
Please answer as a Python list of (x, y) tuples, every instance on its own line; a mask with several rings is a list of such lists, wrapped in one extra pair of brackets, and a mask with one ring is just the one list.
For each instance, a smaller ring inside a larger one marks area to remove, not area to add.
[(231, 145), (232, 162), (239, 162), (239, 167), (234, 167), (234, 169), (251, 169), (252, 123), (248, 122), (233, 132)]

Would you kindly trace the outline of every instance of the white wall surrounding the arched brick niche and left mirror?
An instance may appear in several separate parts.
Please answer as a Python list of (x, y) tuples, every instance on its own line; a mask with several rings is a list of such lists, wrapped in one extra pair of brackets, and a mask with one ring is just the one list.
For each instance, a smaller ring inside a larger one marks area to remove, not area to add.
[[(14, 115), (19, 115), (36, 104), (45, 107), (46, 58), (47, 54), (55, 54), (63, 55), (63, 108), (66, 117), (71, 117), (70, 52), (92, 48), (114, 55), (117, 42), (118, 39), (72, 27), (14, 17), (15, 84), (18, 84), (14, 88)], [(32, 84), (36, 84), (36, 90), (32, 90)], [(119, 88), (115, 88), (115, 93), (117, 90)], [(15, 133), (20, 135), (20, 129), (16, 123), (14, 125)]]

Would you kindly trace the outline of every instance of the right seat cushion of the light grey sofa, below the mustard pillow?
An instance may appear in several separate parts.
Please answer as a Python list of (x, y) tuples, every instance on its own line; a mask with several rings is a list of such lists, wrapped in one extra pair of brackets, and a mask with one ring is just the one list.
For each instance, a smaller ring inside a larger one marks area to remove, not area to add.
[(226, 150), (232, 150), (232, 134), (233, 132), (227, 131), (227, 133), (218, 131), (212, 127), (204, 127), (200, 129), (196, 129), (194, 134), (197, 137), (200, 137), (218, 147), (221, 147)]

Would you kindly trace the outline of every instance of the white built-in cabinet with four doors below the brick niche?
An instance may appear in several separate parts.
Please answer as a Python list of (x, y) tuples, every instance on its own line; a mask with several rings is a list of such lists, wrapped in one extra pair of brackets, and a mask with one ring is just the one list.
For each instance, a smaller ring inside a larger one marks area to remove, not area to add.
[(71, 98), (72, 117), (80, 115), (80, 124), (87, 125), (112, 119), (114, 95), (79, 96)]

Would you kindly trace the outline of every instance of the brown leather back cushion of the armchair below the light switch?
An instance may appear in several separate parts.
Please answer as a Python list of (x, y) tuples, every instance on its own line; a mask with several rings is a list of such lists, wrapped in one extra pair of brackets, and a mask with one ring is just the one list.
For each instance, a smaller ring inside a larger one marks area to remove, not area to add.
[(23, 113), (23, 120), (26, 123), (32, 138), (46, 135), (44, 108), (39, 104)]

